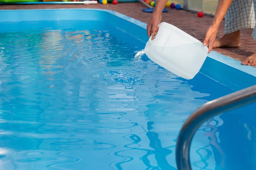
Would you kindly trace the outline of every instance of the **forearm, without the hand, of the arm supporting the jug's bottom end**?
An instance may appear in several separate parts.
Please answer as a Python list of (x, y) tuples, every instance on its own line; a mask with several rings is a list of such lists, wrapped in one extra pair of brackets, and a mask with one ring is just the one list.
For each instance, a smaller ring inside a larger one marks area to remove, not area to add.
[(233, 0), (219, 0), (213, 19), (213, 24), (215, 24), (216, 26), (220, 26), (221, 21), (225, 17), (225, 14), (227, 13), (227, 10), (229, 9), (232, 2)]

